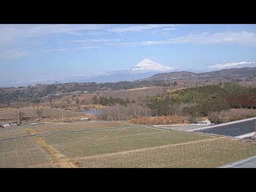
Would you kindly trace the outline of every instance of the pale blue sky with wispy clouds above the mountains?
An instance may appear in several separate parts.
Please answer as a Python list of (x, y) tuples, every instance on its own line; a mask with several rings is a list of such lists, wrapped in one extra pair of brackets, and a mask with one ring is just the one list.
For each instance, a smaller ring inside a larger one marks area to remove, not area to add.
[(148, 58), (176, 70), (256, 66), (256, 25), (0, 25), (0, 86), (93, 76)]

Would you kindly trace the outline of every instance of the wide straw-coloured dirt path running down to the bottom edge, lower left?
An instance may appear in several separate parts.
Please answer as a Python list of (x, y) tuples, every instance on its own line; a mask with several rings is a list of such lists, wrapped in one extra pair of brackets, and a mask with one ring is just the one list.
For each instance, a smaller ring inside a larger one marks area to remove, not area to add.
[(55, 149), (51, 145), (47, 144), (42, 137), (34, 137), (35, 142), (41, 146), (47, 154), (51, 156), (51, 166), (55, 168), (75, 168), (69, 158), (61, 154), (59, 150)]

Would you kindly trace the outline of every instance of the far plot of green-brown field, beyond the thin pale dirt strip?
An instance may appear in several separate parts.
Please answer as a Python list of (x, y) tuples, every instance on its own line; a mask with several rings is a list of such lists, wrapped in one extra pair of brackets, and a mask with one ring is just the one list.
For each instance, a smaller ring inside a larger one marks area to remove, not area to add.
[(63, 133), (43, 136), (50, 145), (69, 157), (84, 157), (126, 150), (150, 148), (191, 142), (207, 138), (204, 135), (169, 132), (150, 127), (127, 127), (119, 130)]

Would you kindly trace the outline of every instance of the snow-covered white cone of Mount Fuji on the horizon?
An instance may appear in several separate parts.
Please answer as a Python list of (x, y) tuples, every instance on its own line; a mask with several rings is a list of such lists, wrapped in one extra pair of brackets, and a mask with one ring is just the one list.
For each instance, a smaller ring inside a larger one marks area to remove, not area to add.
[(150, 59), (143, 59), (136, 67), (130, 69), (133, 72), (146, 72), (146, 71), (170, 71), (172, 67), (161, 65)]

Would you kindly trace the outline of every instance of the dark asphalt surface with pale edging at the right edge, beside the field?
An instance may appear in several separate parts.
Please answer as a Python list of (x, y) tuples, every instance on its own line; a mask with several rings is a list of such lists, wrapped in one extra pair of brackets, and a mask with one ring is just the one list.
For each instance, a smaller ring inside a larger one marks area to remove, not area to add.
[(251, 132), (255, 131), (255, 129), (254, 129), (255, 122), (256, 122), (256, 119), (251, 120), (251, 121), (241, 122), (241, 123), (234, 123), (234, 124), (230, 124), (230, 125), (212, 127), (209, 129), (198, 130), (195, 132), (212, 133), (212, 134), (236, 137), (238, 135), (251, 133)]

